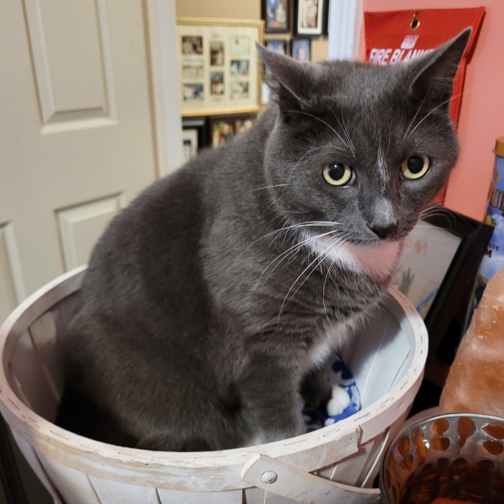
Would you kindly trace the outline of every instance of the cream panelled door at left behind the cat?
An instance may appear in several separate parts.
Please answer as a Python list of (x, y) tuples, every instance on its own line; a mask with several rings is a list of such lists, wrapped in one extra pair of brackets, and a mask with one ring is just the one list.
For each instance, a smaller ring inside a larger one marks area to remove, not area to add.
[(163, 171), (149, 4), (0, 3), (0, 322)]

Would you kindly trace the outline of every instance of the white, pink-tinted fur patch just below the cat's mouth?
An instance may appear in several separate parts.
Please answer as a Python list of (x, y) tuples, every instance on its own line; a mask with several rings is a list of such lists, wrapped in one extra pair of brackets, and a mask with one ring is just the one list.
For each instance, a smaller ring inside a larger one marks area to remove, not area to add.
[(395, 241), (373, 240), (368, 242), (352, 242), (306, 233), (311, 238), (307, 243), (313, 253), (324, 258), (332, 266), (350, 269), (356, 273), (364, 273), (381, 280), (389, 277), (397, 266), (401, 254), (403, 240)]

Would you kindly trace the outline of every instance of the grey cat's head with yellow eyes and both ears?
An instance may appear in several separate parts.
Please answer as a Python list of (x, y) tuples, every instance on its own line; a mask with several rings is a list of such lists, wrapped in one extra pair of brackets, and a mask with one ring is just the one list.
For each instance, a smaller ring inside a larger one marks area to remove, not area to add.
[(258, 46), (279, 109), (265, 150), (279, 212), (340, 223), (353, 243), (405, 236), (459, 154), (450, 98), (470, 33), (393, 66), (298, 62)]

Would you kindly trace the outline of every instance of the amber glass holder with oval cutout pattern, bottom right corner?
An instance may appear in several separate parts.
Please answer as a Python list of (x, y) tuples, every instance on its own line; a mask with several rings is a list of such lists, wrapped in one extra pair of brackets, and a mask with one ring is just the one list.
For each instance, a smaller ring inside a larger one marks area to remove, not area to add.
[(407, 425), (380, 468), (384, 504), (504, 504), (504, 418), (453, 413)]

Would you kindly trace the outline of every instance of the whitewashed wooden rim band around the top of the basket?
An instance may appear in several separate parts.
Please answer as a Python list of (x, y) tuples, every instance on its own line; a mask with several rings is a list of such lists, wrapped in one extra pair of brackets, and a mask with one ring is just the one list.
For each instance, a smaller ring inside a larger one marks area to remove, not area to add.
[[(428, 349), (427, 330), (425, 328), (425, 324), (410, 301), (396, 288), (389, 287), (389, 295), (386, 296), (384, 304), (390, 307), (395, 303), (396, 308), (400, 308), (402, 310), (401, 313), (404, 314), (407, 323), (413, 330), (415, 347), (412, 360), (404, 372), (403, 377), (398, 383), (396, 383), (396, 385), (394, 385), (379, 400), (374, 401), (351, 417), (340, 420), (333, 425), (329, 425), (293, 438), (253, 447), (235, 448), (215, 452), (180, 453), (148, 451), (109, 445), (94, 439), (89, 439), (58, 427), (26, 406), (18, 398), (8, 383), (4, 365), (4, 350), (6, 343), (8, 343), (9, 336), (12, 337), (11, 332), (19, 319), (29, 312), (36, 301), (40, 300), (43, 296), (47, 296), (54, 290), (68, 285), (71, 280), (74, 281), (73, 287), (71, 286), (71, 290), (69, 290), (65, 295), (59, 297), (57, 301), (60, 301), (73, 292), (79, 290), (79, 280), (82, 280), (86, 268), (86, 266), (75, 268), (56, 277), (54, 280), (39, 288), (22, 303), (20, 303), (17, 308), (12, 311), (2, 326), (0, 326), (0, 412), (3, 413), (4, 417), (14, 417), (24, 426), (23, 430), (28, 429), (28, 431), (33, 432), (35, 434), (34, 437), (42, 441), (42, 444), (37, 446), (37, 448), (40, 448), (42, 453), (44, 453), (44, 445), (46, 443), (50, 443), (55, 450), (64, 449), (70, 450), (74, 453), (86, 452), (88, 455), (94, 455), (97, 460), (107, 462), (111, 466), (116, 467), (121, 465), (121, 463), (118, 464), (118, 457), (120, 457), (122, 462), (127, 462), (131, 467), (139, 466), (144, 468), (149, 467), (152, 469), (156, 467), (180, 468), (182, 466), (191, 469), (205, 469), (210, 467), (224, 468), (231, 465), (244, 464), (251, 457), (258, 454), (266, 454), (272, 458), (281, 459), (283, 456), (288, 456), (293, 452), (299, 451), (299, 449), (305, 449), (307, 443), (309, 443), (310, 449), (314, 449), (324, 446), (331, 441), (341, 442), (346, 438), (351, 443), (351, 447), (342, 448), (344, 453), (340, 457), (341, 459), (356, 453), (359, 449), (359, 443), (367, 440), (362, 436), (362, 426), (366, 424), (366, 420), (369, 420), (370, 418), (376, 419), (386, 413), (390, 408), (391, 402), (399, 403), (400, 406), (404, 406), (404, 404), (401, 403), (401, 400), (405, 395), (407, 395), (409, 390), (415, 386), (415, 384), (419, 384), (423, 377), (423, 370)], [(38, 313), (32, 323), (41, 317), (43, 313)], [(401, 320), (398, 319), (398, 322), (401, 323)], [(410, 387), (408, 387), (408, 385), (410, 385)], [(405, 408), (406, 407), (404, 407), (403, 410)], [(395, 413), (394, 417), (397, 418), (399, 414), (400, 413)], [(11, 428), (16, 430), (16, 428), (11, 425), (9, 418), (7, 417), (6, 420)], [(387, 424), (386, 427), (389, 425), (390, 424)], [(383, 428), (380, 431), (382, 430)], [(377, 433), (371, 434), (372, 435), (369, 435), (368, 433), (369, 439), (374, 437)]]

